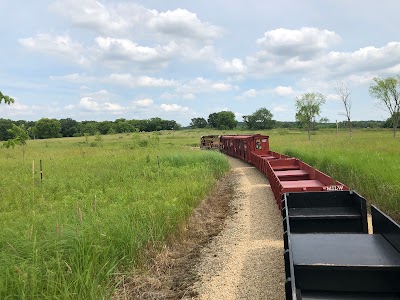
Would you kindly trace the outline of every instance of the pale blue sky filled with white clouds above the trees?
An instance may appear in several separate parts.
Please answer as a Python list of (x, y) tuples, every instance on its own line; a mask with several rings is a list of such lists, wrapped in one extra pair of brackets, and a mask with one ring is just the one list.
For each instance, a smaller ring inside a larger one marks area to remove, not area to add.
[(326, 97), (321, 118), (389, 117), (368, 93), (400, 74), (399, 1), (0, 0), (0, 118), (175, 120)]

